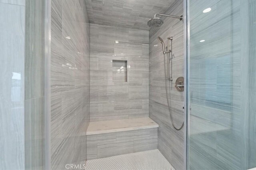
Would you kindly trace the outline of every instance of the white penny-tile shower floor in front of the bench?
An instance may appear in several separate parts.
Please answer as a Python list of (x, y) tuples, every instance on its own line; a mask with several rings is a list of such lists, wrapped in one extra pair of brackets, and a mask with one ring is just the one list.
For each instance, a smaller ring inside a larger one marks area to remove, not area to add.
[(174, 170), (158, 149), (86, 162), (86, 170)]

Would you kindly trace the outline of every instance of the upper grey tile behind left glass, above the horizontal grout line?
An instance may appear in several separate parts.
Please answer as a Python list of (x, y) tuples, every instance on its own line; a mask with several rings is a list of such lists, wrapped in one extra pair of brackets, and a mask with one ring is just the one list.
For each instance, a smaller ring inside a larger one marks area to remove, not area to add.
[(44, 96), (44, 1), (26, 2), (25, 99)]

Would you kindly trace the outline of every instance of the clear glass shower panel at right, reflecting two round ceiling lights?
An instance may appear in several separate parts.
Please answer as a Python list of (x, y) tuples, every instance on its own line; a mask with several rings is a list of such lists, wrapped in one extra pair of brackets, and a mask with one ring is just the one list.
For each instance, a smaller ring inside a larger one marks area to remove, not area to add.
[(256, 1), (188, 1), (189, 169), (256, 167)]

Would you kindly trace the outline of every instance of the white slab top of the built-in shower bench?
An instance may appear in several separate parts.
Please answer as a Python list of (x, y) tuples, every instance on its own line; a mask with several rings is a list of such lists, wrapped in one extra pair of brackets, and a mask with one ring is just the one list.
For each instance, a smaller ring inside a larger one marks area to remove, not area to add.
[(150, 129), (156, 127), (158, 127), (158, 124), (149, 117), (110, 121), (92, 121), (89, 123), (86, 135)]

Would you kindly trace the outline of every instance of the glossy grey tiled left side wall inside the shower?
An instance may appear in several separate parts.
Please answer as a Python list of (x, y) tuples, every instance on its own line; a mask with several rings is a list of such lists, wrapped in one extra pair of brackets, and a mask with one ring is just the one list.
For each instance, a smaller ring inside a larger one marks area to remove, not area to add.
[(90, 25), (84, 0), (52, 0), (51, 164), (86, 161)]

